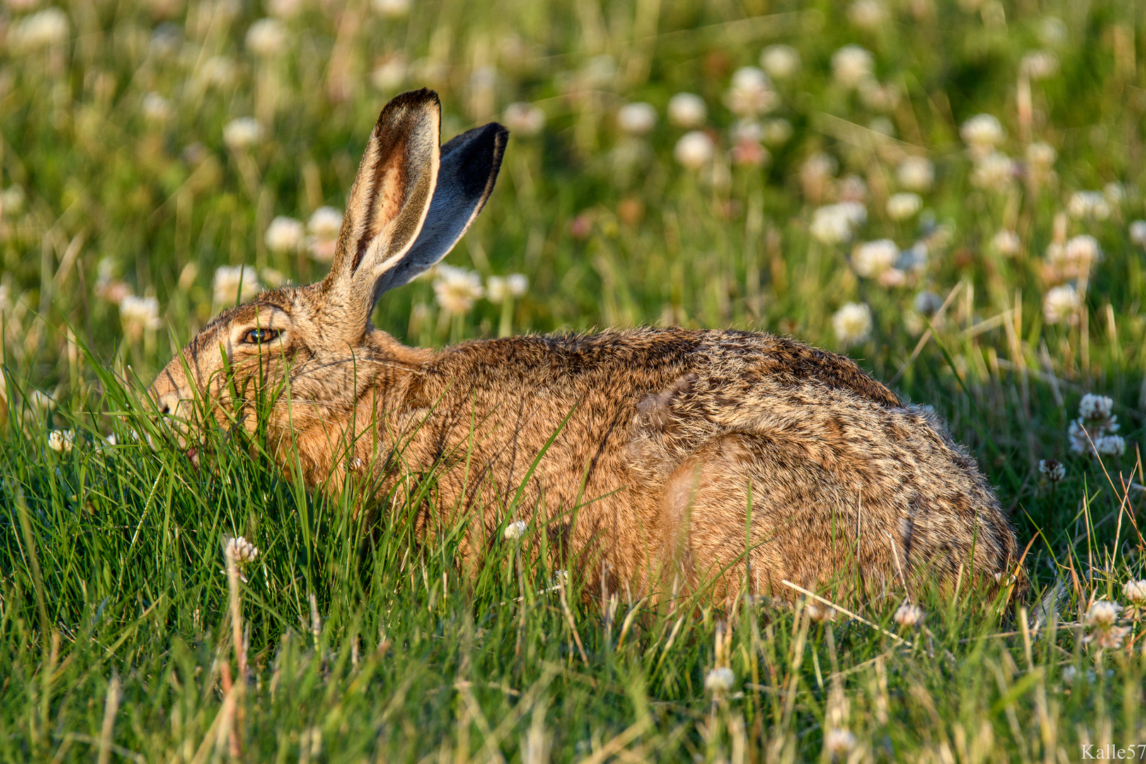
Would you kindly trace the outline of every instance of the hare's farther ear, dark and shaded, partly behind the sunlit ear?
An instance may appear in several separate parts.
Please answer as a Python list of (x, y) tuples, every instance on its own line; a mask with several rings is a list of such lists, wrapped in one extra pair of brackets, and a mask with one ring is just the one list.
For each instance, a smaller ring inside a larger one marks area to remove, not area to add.
[(508, 137), (508, 129), (489, 123), (441, 147), (438, 187), (422, 233), (406, 254), (382, 275), (378, 294), (406, 284), (454, 249), (494, 190)]

